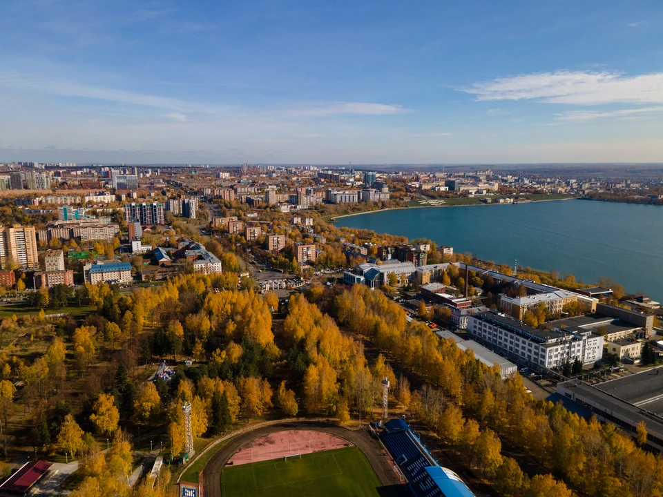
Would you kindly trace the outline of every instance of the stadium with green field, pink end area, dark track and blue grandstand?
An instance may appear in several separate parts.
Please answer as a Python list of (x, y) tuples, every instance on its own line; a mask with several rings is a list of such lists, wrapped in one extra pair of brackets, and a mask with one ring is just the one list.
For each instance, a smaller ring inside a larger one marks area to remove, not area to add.
[(317, 421), (242, 433), (214, 454), (200, 483), (200, 494), (191, 495), (474, 497), (401, 419), (386, 422), (379, 435)]

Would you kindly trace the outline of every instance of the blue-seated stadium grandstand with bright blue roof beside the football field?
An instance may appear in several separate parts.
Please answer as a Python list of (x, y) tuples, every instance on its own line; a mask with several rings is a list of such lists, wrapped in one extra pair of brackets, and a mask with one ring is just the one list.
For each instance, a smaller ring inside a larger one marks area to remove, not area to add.
[(474, 497), (454, 471), (441, 467), (402, 419), (385, 422), (380, 434), (416, 497)]

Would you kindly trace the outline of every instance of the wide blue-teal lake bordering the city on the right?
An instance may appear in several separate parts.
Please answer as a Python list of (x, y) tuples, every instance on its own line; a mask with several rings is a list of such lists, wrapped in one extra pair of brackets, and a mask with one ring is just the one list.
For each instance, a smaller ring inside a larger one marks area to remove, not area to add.
[(427, 237), (479, 259), (611, 277), (629, 293), (663, 299), (663, 206), (566, 200), (411, 208), (341, 217), (339, 226)]

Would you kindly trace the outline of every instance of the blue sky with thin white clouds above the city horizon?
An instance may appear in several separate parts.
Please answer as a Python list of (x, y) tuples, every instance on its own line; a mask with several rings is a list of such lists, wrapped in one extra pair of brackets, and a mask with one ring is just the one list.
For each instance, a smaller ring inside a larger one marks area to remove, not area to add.
[(663, 2), (0, 2), (0, 162), (663, 162)]

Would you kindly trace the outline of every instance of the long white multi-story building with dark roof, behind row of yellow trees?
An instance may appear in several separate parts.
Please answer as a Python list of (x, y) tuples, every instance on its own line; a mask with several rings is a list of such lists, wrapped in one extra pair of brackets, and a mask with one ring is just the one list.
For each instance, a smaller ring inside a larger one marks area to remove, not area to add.
[(603, 337), (591, 331), (539, 330), (494, 312), (468, 316), (472, 340), (521, 364), (553, 369), (579, 359), (593, 364), (603, 357)]

